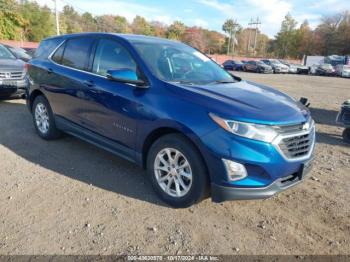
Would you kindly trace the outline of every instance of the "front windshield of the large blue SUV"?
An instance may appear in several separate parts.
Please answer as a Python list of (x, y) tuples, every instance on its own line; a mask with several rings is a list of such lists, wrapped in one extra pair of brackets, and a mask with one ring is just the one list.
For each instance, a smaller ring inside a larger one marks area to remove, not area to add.
[(161, 80), (188, 84), (234, 82), (218, 64), (185, 44), (135, 41), (133, 46)]

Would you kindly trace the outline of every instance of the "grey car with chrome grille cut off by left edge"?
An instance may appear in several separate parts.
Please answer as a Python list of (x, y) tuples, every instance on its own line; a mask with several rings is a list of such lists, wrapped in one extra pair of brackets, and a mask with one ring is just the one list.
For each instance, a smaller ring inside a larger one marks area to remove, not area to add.
[(26, 85), (25, 62), (0, 44), (0, 98), (22, 95)]

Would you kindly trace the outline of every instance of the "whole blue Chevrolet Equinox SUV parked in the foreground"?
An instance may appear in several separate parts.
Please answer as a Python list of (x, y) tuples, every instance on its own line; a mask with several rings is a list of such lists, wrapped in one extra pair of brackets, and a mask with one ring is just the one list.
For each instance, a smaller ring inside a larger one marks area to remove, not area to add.
[(310, 169), (307, 108), (180, 42), (57, 36), (41, 42), (28, 70), (40, 137), (68, 133), (137, 163), (171, 206), (268, 198)]

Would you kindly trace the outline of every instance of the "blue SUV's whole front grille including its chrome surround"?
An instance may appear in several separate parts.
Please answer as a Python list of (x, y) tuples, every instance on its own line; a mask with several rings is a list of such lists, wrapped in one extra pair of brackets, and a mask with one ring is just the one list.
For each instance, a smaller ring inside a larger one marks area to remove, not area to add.
[(279, 136), (273, 145), (287, 161), (303, 161), (311, 157), (315, 147), (314, 122), (308, 130), (302, 130), (305, 123), (293, 126), (279, 127)]

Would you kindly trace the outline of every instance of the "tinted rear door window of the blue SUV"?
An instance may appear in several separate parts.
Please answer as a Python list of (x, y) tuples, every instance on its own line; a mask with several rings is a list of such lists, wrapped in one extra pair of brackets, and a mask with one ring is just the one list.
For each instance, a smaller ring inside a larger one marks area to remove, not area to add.
[(63, 54), (62, 65), (80, 70), (86, 69), (93, 41), (94, 39), (90, 37), (68, 40)]

